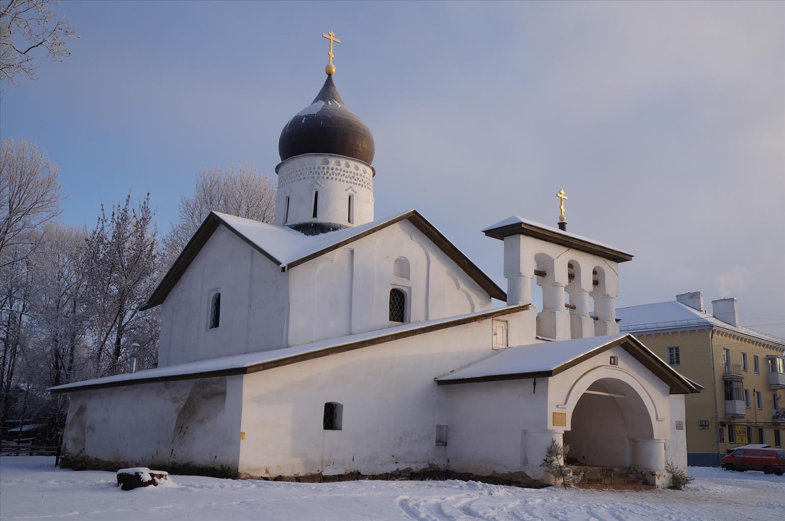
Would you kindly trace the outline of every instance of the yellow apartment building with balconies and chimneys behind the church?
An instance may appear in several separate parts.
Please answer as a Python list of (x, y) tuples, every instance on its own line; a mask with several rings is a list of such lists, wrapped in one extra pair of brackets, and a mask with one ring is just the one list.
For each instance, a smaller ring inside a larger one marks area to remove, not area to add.
[(717, 466), (747, 443), (783, 446), (785, 338), (739, 326), (736, 299), (683, 293), (676, 301), (616, 310), (632, 333), (705, 391), (685, 395), (688, 465)]

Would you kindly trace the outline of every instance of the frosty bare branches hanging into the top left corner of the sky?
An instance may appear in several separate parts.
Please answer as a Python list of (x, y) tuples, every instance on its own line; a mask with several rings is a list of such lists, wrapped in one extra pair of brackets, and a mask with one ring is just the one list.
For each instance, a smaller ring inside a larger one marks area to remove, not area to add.
[(56, 20), (56, 0), (0, 0), (0, 81), (19, 85), (16, 75), (35, 79), (33, 52), (46, 49), (53, 62), (71, 51), (63, 38), (79, 38), (71, 22)]

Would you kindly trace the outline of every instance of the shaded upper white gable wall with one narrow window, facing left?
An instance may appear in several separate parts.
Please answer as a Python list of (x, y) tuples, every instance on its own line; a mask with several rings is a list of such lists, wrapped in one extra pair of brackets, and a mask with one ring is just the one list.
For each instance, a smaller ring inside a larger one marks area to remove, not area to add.
[[(285, 346), (287, 278), (219, 225), (162, 304), (159, 366)], [(221, 320), (208, 329), (214, 291)]]

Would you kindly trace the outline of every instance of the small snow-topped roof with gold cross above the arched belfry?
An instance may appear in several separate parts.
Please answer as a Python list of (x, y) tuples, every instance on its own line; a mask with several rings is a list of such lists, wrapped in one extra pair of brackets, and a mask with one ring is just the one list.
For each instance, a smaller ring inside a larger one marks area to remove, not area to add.
[(553, 228), (553, 226), (524, 219), (517, 215), (507, 217), (505, 220), (485, 228), (483, 232), (488, 237), (499, 240), (504, 240), (505, 237), (510, 235), (528, 235), (535, 239), (553, 242), (574, 250), (592, 253), (614, 262), (626, 262), (633, 259), (632, 253), (625, 253), (614, 246), (608, 246), (602, 242), (597, 242), (569, 231), (561, 231), (559, 228)]

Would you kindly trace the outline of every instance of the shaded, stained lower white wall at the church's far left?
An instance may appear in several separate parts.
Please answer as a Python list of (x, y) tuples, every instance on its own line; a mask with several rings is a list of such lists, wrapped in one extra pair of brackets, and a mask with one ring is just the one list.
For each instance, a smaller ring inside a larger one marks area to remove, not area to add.
[(236, 469), (243, 377), (71, 393), (64, 452), (117, 464)]

